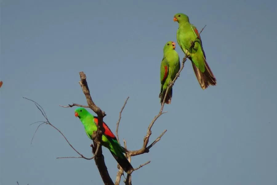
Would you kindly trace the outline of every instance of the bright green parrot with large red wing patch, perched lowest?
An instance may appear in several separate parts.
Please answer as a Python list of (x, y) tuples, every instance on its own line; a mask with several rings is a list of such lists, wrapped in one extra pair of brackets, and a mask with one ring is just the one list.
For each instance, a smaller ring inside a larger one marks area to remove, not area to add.
[[(82, 121), (87, 136), (92, 140), (92, 134), (94, 131), (97, 130), (98, 118), (91, 115), (86, 109), (82, 107), (75, 109), (75, 117), (78, 117), (80, 121)], [(114, 156), (115, 160), (126, 173), (130, 172), (134, 168), (123, 154), (126, 152), (126, 149), (120, 146), (116, 137), (114, 136), (110, 128), (106, 125), (106, 123), (104, 123), (104, 121), (103, 127), (105, 132), (102, 135), (101, 144), (110, 150), (110, 153)]]

